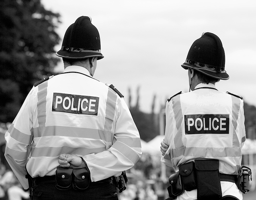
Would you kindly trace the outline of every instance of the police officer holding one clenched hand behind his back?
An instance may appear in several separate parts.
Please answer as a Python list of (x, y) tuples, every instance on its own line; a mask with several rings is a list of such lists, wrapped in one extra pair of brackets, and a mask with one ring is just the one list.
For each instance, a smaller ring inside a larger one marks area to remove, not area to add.
[(68, 27), (56, 55), (65, 70), (31, 89), (5, 157), (34, 200), (118, 199), (113, 180), (140, 158), (140, 135), (122, 94), (93, 78), (103, 55), (89, 17)]

